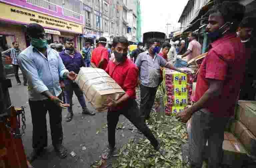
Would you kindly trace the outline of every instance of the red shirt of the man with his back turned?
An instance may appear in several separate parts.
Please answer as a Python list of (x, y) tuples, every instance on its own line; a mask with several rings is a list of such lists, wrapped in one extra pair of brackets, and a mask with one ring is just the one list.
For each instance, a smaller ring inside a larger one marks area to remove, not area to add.
[(98, 66), (102, 58), (105, 58), (107, 60), (107, 62), (104, 62), (102, 65), (102, 69), (105, 70), (107, 68), (108, 60), (109, 60), (108, 50), (102, 46), (95, 48), (92, 52), (91, 62), (94, 63), (96, 66)]

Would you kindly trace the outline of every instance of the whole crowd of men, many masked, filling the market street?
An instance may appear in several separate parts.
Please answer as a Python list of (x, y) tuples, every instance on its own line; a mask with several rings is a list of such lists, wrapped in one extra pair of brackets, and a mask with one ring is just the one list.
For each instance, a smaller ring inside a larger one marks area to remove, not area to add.
[[(222, 158), (224, 128), (231, 116), (239, 95), (242, 99), (253, 99), (256, 86), (252, 64), (254, 63), (253, 21), (244, 18), (245, 7), (237, 2), (225, 1), (209, 12), (206, 27), (211, 40), (209, 51), (204, 58), (197, 76), (195, 103), (177, 114), (184, 123), (191, 119), (189, 132), (189, 161), (191, 167), (202, 166), (202, 153), (206, 141), (210, 148), (209, 167), (218, 167)], [(243, 19), (243, 20), (242, 20)], [(162, 68), (186, 73), (176, 68), (174, 62), (180, 58), (187, 61), (201, 54), (201, 44), (197, 34), (189, 33), (189, 45), (172, 46), (156, 39), (150, 39), (146, 48), (138, 43), (137, 49), (128, 53), (129, 41), (115, 37), (112, 47), (106, 48), (107, 39), (100, 37), (98, 47), (91, 48), (86, 42), (81, 52), (76, 51), (74, 39), (65, 38), (64, 43), (47, 44), (44, 28), (39, 24), (29, 24), (26, 28), (31, 45), (24, 51), (19, 43), (13, 42), (10, 53), (17, 83), (20, 84), (18, 69), (28, 83), (29, 106), (33, 123), (33, 152), (30, 161), (37, 158), (47, 147), (46, 113), (49, 113), (52, 143), (57, 154), (64, 158), (67, 150), (62, 145), (62, 108), (67, 108), (67, 121), (73, 117), (72, 97), (77, 96), (84, 114), (95, 115), (86, 107), (86, 100), (79, 86), (74, 82), (81, 67), (105, 70), (125, 91), (118, 100), (109, 100), (107, 106), (108, 142), (102, 158), (108, 159), (115, 150), (115, 130), (122, 114), (151, 142), (156, 151), (165, 156), (164, 146), (146, 125), (150, 118), (155, 95), (161, 83)], [(245, 82), (242, 83), (245, 77)], [(135, 89), (140, 80), (140, 108), (135, 101)], [(64, 92), (65, 102), (62, 100)], [(253, 93), (254, 94), (253, 94)], [(248, 96), (249, 94), (249, 96)]]

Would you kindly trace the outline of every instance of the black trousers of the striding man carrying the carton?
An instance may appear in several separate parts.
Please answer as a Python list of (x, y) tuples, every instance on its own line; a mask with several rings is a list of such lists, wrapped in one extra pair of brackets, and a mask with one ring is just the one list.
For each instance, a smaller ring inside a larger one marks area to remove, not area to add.
[(108, 143), (110, 147), (115, 147), (116, 144), (116, 125), (120, 115), (124, 115), (128, 120), (133, 123), (139, 131), (141, 131), (151, 142), (154, 148), (157, 148), (158, 141), (155, 136), (148, 128), (144, 119), (141, 118), (140, 111), (137, 102), (134, 99), (128, 100), (128, 105), (118, 111), (108, 110), (107, 121), (108, 121)]

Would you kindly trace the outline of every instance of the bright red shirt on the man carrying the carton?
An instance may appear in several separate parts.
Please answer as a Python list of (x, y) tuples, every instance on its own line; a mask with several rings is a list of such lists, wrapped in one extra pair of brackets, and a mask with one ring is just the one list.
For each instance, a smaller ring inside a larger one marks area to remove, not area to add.
[[(121, 86), (122, 89), (124, 89), (125, 93), (128, 94), (130, 98), (136, 99), (135, 88), (137, 86), (139, 69), (134, 63), (129, 59), (126, 59), (126, 61), (121, 64), (115, 64), (113, 61), (110, 61), (106, 68), (106, 72), (119, 86)], [(125, 105), (127, 105), (127, 103), (123, 102), (115, 109), (121, 109)]]

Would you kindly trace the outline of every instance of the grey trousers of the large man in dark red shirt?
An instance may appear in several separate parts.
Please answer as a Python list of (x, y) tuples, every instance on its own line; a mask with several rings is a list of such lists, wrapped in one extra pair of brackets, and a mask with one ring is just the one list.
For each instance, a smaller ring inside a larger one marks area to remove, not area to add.
[(191, 168), (201, 168), (203, 153), (208, 141), (208, 168), (218, 168), (222, 162), (224, 130), (229, 117), (214, 117), (205, 109), (191, 117), (189, 131), (189, 161)]

